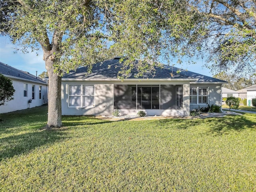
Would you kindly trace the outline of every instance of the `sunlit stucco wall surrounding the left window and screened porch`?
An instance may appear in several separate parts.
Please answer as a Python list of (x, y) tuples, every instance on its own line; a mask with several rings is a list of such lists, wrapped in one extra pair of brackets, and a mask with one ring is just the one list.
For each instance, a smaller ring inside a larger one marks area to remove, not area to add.
[[(93, 107), (68, 107), (68, 85), (88, 84), (95, 85), (95, 106)], [(189, 116), (189, 81), (88, 81), (88, 80), (62, 80), (62, 114), (63, 115), (112, 115), (114, 111), (114, 84), (183, 84), (183, 109), (182, 110), (145, 110), (148, 115), (166, 115), (166, 116)], [(136, 114), (138, 110), (120, 110), (125, 114)]]

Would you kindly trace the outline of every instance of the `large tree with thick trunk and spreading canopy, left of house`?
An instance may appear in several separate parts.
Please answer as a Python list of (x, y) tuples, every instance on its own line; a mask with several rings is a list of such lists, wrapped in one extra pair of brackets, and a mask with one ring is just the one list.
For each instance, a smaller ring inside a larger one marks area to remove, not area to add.
[[(186, 0), (0, 2), (2, 35), (10, 36), (24, 52), (27, 47), (43, 50), (49, 76), (49, 127), (62, 126), (62, 74), (120, 55), (121, 78), (133, 68), (138, 75), (154, 74), (160, 60), (184, 55), (191, 31), (197, 31), (197, 13)], [(139, 62), (135, 65), (134, 60)]]

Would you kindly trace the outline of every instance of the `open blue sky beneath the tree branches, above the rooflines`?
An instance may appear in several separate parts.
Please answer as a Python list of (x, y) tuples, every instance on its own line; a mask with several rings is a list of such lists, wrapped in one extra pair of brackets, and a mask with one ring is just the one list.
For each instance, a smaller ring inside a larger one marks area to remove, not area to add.
[[(8, 37), (0, 36), (0, 62), (8, 64), (16, 69), (27, 71), (33, 75), (36, 75), (36, 71), (38, 75), (43, 71), (46, 71), (42, 50), (23, 54), (21, 51), (16, 52), (15, 47), (16, 45), (12, 44)], [(184, 62), (182, 68), (212, 77), (210, 70), (204, 66), (205, 61), (203, 59), (195, 59), (194, 62), (196, 62), (196, 64), (188, 65)], [(181, 67), (179, 64), (175, 63), (174, 66), (178, 68)]]

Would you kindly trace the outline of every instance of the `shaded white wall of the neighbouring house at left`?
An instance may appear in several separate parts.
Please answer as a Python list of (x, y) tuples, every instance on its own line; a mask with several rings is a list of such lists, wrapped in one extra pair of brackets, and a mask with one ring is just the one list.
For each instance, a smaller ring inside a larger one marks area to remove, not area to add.
[[(7, 113), (16, 110), (41, 106), (42, 104), (47, 102), (47, 86), (45, 84), (39, 84), (13, 78), (10, 78), (10, 80), (12, 80), (12, 86), (15, 89), (13, 96), (14, 100), (5, 102), (4, 105), (0, 106), (0, 113)], [(28, 84), (26, 97), (24, 97), (24, 83)], [(32, 103), (29, 104), (28, 100), (32, 98), (32, 85), (35, 85), (35, 99), (32, 100)], [(42, 86), (41, 99), (39, 99), (39, 86)]]

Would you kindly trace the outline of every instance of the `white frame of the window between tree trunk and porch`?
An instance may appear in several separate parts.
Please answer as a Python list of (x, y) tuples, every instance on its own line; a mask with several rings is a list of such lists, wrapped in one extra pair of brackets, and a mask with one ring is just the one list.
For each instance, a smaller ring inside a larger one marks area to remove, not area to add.
[[(80, 95), (70, 95), (70, 86), (80, 86)], [(93, 95), (86, 95), (83, 93), (83, 86), (93, 86)], [(80, 106), (70, 106), (70, 96), (80, 96)], [(84, 97), (94, 97), (93, 106), (83, 106)], [(94, 108), (95, 107), (95, 85), (94, 84), (68, 84), (68, 108)]]

